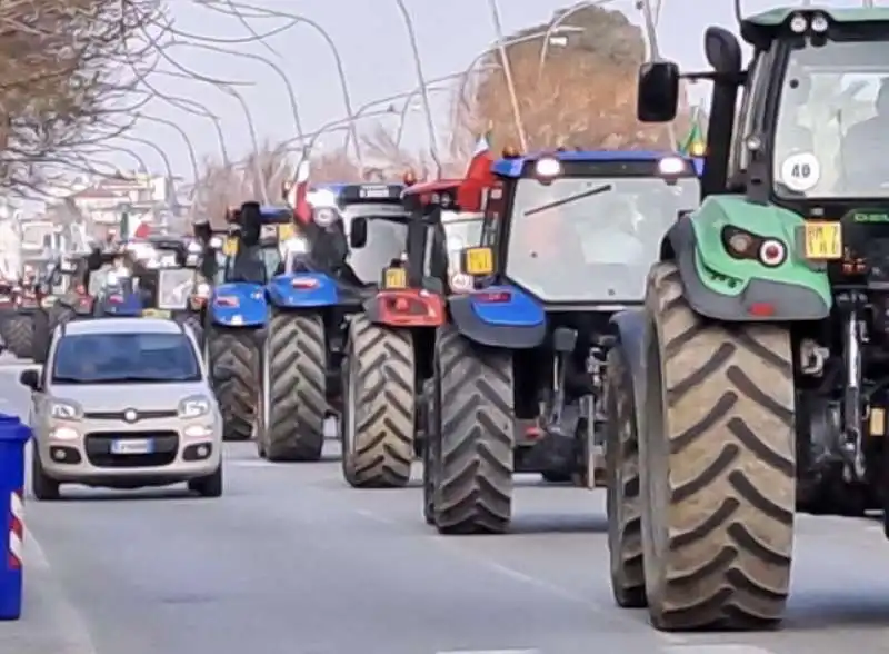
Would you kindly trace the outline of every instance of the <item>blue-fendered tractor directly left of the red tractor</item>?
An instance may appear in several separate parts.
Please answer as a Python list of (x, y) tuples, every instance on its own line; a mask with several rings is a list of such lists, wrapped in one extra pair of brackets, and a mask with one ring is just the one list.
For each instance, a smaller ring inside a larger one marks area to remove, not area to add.
[(266, 289), (271, 310), (261, 357), (261, 457), (320, 459), (324, 420), (340, 410), (349, 317), (404, 251), (402, 190), (384, 184), (317, 189), (309, 197), (311, 219), (282, 244), (284, 265)]

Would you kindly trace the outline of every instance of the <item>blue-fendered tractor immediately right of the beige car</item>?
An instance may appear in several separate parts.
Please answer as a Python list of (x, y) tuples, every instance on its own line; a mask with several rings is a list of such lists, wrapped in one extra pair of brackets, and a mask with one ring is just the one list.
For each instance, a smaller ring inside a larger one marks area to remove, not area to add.
[(226, 440), (253, 434), (259, 393), (259, 357), (268, 318), (266, 283), (281, 262), (279, 244), (293, 229), (288, 207), (244, 202), (229, 212), (230, 232), (220, 259), (208, 250), (203, 266), (213, 279), (202, 308), (204, 360), (219, 398)]

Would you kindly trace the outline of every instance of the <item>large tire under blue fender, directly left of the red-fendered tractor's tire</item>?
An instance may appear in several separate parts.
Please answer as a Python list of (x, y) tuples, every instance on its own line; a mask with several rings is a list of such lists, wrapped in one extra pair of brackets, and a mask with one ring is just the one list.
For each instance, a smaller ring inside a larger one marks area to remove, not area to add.
[(262, 429), (271, 462), (317, 462), (324, 446), (327, 338), (317, 314), (273, 311), (262, 355)]

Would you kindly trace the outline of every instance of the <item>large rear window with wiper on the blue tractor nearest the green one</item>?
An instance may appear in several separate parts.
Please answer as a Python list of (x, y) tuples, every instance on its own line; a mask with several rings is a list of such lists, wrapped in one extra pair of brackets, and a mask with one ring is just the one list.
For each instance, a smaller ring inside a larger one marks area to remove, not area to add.
[(520, 179), (506, 274), (547, 301), (639, 301), (663, 235), (699, 192), (696, 178)]

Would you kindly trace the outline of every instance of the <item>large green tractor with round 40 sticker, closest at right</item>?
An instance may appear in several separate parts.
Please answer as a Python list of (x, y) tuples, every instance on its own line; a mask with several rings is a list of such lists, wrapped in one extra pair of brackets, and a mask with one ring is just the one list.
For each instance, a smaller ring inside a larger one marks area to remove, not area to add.
[(613, 594), (668, 631), (775, 625), (795, 513), (889, 504), (889, 10), (737, 13), (746, 68), (713, 27), (711, 71), (639, 76), (647, 122), (713, 85), (702, 202), (608, 356)]

